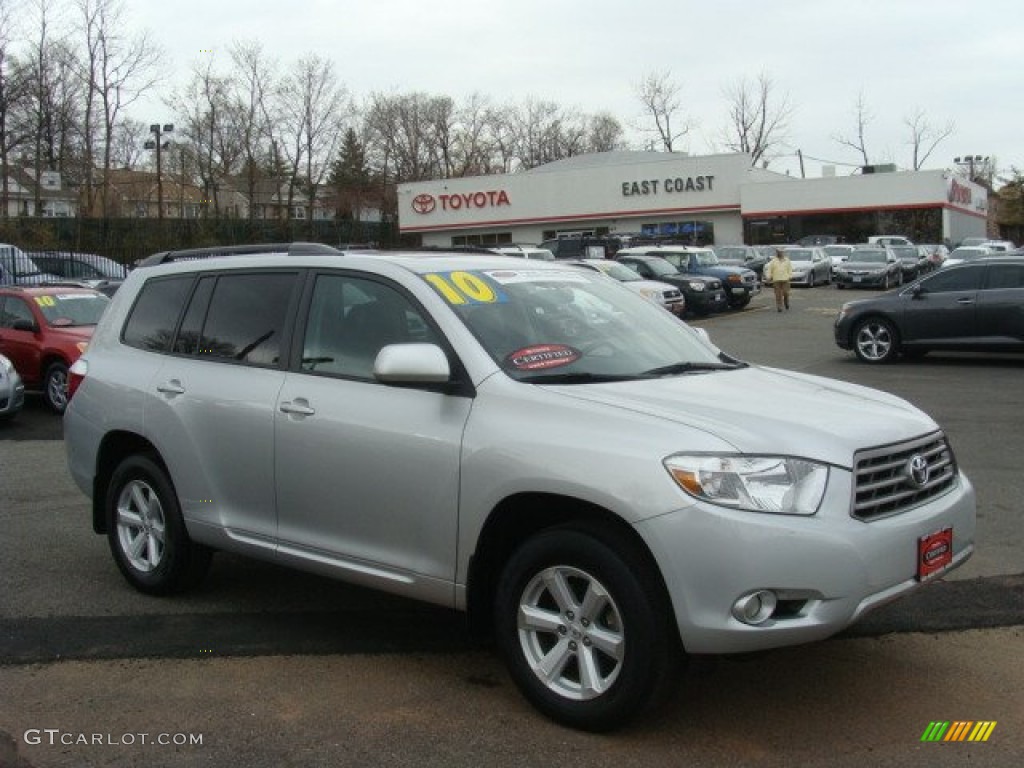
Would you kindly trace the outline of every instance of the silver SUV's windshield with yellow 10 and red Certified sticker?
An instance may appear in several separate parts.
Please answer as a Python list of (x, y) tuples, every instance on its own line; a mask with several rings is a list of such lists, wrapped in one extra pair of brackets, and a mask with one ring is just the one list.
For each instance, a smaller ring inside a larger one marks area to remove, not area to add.
[(423, 278), (519, 381), (591, 383), (723, 367), (720, 352), (689, 326), (591, 272), (484, 269)]

